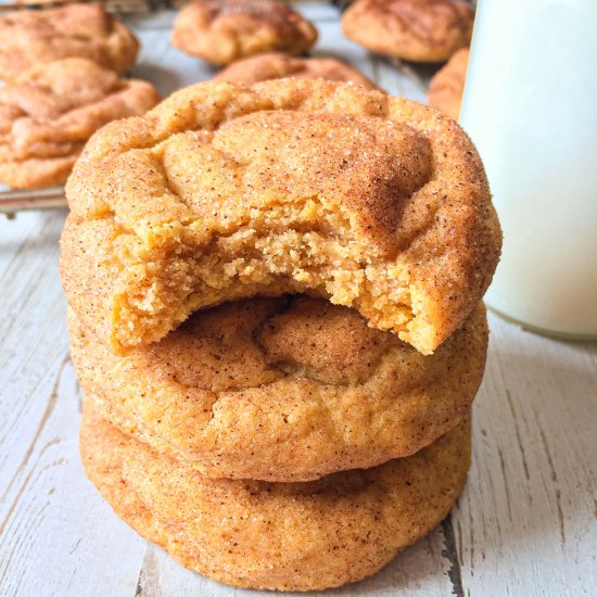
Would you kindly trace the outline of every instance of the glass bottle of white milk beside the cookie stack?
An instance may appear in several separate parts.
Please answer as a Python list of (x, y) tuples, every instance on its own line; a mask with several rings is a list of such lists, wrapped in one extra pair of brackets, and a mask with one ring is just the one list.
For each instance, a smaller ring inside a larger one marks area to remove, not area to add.
[(597, 0), (479, 0), (460, 120), (504, 230), (487, 304), (597, 336)]

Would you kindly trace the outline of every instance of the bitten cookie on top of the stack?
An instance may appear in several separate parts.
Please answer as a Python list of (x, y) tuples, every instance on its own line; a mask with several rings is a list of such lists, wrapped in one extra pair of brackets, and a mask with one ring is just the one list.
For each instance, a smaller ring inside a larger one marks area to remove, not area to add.
[(430, 354), (481, 300), (501, 242), (457, 124), (318, 79), (174, 93), (94, 136), (67, 198), (63, 285), (117, 352), (199, 308), (310, 293)]

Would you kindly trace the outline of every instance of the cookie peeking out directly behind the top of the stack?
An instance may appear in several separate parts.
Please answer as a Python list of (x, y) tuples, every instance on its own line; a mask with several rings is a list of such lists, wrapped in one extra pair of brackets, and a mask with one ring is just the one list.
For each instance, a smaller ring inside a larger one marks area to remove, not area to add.
[(365, 75), (339, 60), (331, 58), (297, 59), (282, 53), (262, 54), (239, 60), (221, 69), (213, 80), (253, 85), (285, 77), (354, 82), (367, 89), (379, 89)]

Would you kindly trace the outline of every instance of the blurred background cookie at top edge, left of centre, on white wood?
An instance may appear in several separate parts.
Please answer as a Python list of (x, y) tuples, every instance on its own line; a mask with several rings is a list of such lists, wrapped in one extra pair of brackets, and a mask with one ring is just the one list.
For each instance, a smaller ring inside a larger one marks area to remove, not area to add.
[(302, 54), (317, 29), (281, 0), (196, 0), (174, 23), (172, 43), (211, 64), (266, 52)]

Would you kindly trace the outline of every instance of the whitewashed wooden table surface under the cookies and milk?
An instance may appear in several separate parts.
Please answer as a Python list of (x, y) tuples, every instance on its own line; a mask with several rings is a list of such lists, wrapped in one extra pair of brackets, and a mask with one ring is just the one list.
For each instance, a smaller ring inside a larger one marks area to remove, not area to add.
[[(423, 99), (420, 81), (344, 40), (333, 9), (305, 12), (322, 34), (318, 52), (341, 54), (393, 93)], [(168, 18), (158, 21), (167, 26)], [(165, 28), (145, 29), (152, 56), (162, 52), (173, 64), (163, 91), (179, 85), (180, 64), (196, 69), (198, 80), (208, 75), (168, 49)], [(154, 76), (160, 67), (148, 56), (138, 72)], [(0, 219), (0, 595), (257, 595), (174, 563), (120, 522), (86, 480), (77, 454), (80, 392), (58, 277), (64, 217)], [(490, 319), (473, 466), (457, 507), (380, 574), (329, 595), (597, 595), (597, 344), (548, 340)]]

